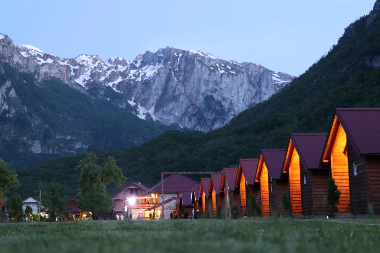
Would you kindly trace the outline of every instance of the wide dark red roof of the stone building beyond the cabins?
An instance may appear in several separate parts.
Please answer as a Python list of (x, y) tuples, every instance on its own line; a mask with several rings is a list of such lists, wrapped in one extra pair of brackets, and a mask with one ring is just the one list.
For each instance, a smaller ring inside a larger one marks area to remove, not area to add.
[[(193, 184), (196, 183), (193, 179), (189, 179), (181, 174), (172, 174), (164, 180), (164, 193), (180, 193), (181, 191), (191, 191)], [(143, 194), (161, 193), (161, 182), (149, 188)]]

